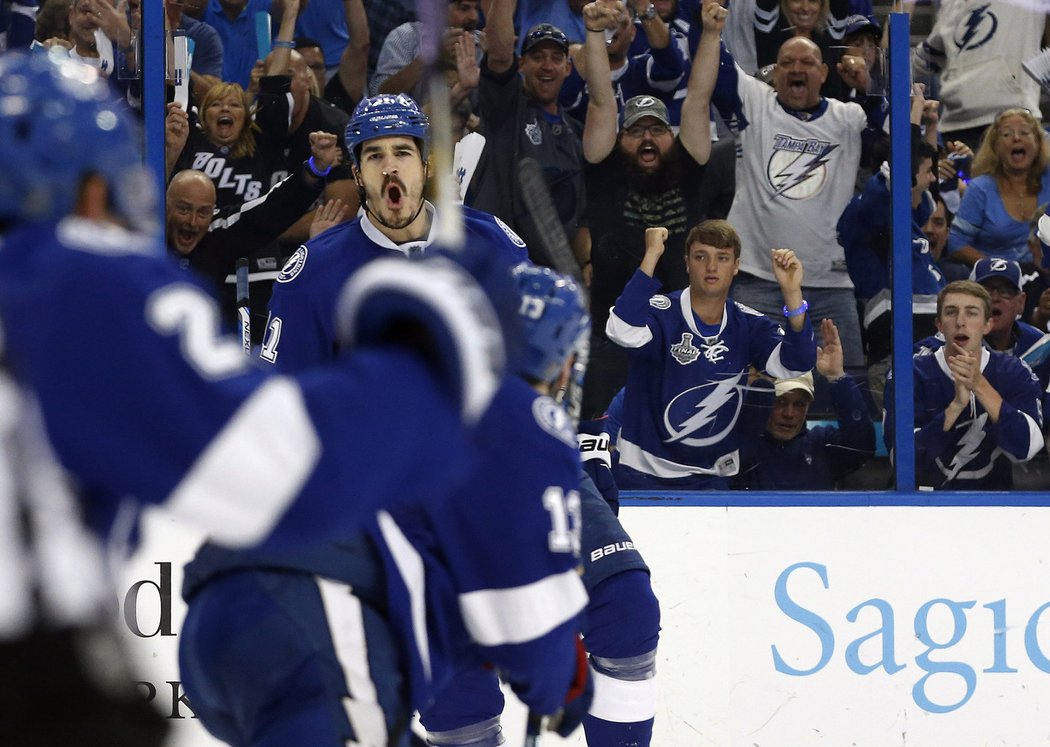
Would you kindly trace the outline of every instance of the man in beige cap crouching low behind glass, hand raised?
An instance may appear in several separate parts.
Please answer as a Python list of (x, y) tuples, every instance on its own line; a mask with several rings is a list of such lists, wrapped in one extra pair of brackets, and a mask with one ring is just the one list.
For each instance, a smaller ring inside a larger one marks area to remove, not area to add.
[[(814, 397), (813, 372), (763, 377), (749, 388), (741, 416), (740, 474), (735, 490), (831, 491), (875, 454), (875, 427), (857, 380), (842, 366), (835, 323), (821, 324), (817, 373), (827, 379), (838, 426), (806, 426)], [(771, 401), (772, 400), (772, 401)]]

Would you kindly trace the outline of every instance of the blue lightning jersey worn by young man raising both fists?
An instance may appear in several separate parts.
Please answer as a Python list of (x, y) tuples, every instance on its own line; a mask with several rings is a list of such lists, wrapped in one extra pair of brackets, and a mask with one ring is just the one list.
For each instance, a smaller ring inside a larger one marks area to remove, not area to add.
[[(620, 464), (653, 484), (704, 476), (718, 478), (707, 483), (714, 486), (740, 468), (736, 424), (749, 367), (777, 378), (810, 371), (813, 328), (806, 317), (801, 332), (782, 330), (730, 298), (720, 328), (705, 335), (688, 289), (662, 295), (659, 287), (636, 271), (606, 326), (630, 355)], [(625, 486), (618, 474), (617, 482)]]

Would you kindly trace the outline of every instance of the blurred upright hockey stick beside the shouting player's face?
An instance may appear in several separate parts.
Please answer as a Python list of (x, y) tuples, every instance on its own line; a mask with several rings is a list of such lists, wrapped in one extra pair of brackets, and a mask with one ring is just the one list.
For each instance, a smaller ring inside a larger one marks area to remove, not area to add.
[(463, 246), (463, 212), (453, 174), (452, 102), (441, 69), (442, 33), (448, 25), (448, 0), (419, 0), (416, 14), (422, 22), (420, 57), (429, 95), (430, 164), (439, 219), (437, 240), (443, 247), (459, 249)]

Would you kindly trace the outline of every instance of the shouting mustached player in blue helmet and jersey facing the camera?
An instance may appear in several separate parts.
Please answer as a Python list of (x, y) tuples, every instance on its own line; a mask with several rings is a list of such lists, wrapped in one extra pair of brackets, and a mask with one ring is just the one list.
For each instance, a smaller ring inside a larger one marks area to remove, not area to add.
[[(346, 125), (346, 147), (363, 214), (300, 246), (277, 275), (260, 355), (282, 370), (331, 359), (336, 295), (380, 256), (425, 252), (441, 215), (423, 194), (429, 122), (402, 94), (364, 99)], [(525, 243), (499, 219), (463, 208), (465, 241), (524, 260)]]

